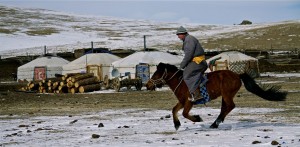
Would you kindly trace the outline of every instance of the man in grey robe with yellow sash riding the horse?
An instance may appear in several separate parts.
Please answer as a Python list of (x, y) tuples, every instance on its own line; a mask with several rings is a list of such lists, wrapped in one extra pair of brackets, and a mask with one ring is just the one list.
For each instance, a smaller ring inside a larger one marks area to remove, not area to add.
[(189, 35), (184, 27), (180, 26), (177, 29), (176, 35), (183, 41), (182, 50), (185, 55), (180, 68), (184, 70), (183, 79), (191, 94), (189, 100), (194, 102), (203, 98), (199, 90), (199, 85), (201, 77), (208, 67), (205, 61), (204, 49), (197, 38)]

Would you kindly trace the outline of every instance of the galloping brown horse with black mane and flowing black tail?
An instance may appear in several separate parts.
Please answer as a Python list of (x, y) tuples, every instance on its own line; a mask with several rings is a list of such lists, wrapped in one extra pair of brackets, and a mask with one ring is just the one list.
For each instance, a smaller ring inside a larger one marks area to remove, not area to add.
[[(173, 122), (175, 129), (180, 127), (180, 121), (177, 113), (183, 108), (182, 115), (193, 121), (201, 122), (202, 119), (199, 115), (190, 115), (189, 112), (194, 105), (188, 100), (190, 93), (187, 85), (182, 80), (182, 70), (179, 70), (176, 66), (170, 64), (159, 63), (157, 70), (152, 75), (151, 79), (146, 83), (148, 90), (154, 90), (156, 87), (161, 88), (164, 84), (167, 84), (174, 92), (178, 99), (178, 103), (173, 107)], [(269, 101), (284, 101), (286, 98), (286, 92), (278, 91), (278, 88), (271, 87), (267, 90), (259, 87), (254, 79), (248, 74), (236, 74), (230, 70), (214, 71), (207, 74), (208, 82), (206, 83), (207, 91), (211, 100), (222, 96), (221, 113), (210, 128), (218, 128), (219, 124), (224, 121), (226, 115), (234, 109), (235, 104), (233, 98), (239, 91), (242, 82), (245, 88), (257, 96), (269, 100)]]

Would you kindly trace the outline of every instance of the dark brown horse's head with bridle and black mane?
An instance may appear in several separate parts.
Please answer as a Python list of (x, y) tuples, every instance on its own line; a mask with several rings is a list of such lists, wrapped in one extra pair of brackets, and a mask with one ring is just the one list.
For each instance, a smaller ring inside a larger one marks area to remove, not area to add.
[(169, 74), (173, 75), (176, 71), (178, 71), (178, 68), (174, 65), (159, 63), (157, 70), (146, 83), (147, 90), (155, 90), (156, 87), (161, 88), (172, 78)]

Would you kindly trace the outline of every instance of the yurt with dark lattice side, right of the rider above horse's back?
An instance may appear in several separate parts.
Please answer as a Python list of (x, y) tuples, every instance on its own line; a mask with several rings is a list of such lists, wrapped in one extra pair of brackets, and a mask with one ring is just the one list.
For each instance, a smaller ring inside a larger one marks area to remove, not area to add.
[(207, 59), (209, 69), (207, 72), (216, 70), (231, 70), (242, 74), (247, 72), (252, 77), (259, 77), (258, 59), (237, 51), (223, 52)]

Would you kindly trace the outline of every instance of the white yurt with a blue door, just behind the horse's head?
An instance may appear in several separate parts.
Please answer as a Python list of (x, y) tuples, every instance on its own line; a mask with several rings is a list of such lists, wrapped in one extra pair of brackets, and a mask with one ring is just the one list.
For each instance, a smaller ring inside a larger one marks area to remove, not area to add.
[(130, 76), (130, 78), (142, 78), (142, 82), (148, 81), (156, 71), (156, 65), (160, 62), (179, 66), (182, 57), (167, 52), (135, 52), (123, 59), (112, 63), (109, 78)]

